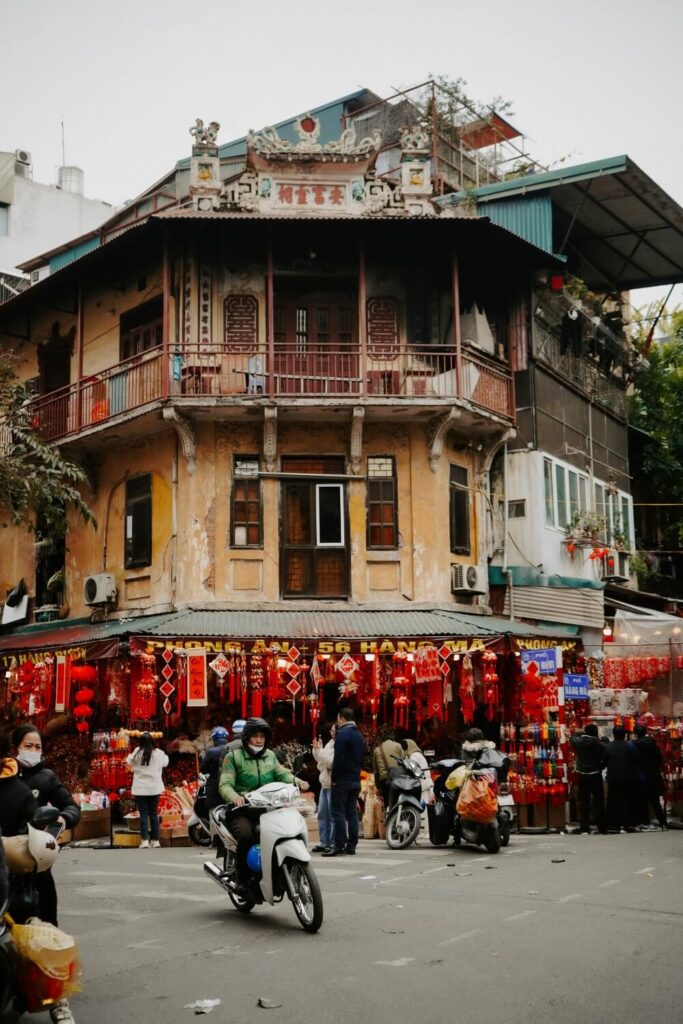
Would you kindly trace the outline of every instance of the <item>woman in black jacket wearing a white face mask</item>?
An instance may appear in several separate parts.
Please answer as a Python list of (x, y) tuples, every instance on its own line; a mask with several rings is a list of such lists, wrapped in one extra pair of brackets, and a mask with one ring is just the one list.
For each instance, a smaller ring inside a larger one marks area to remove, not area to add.
[[(16, 758), (19, 775), (32, 791), (39, 807), (50, 804), (56, 807), (59, 818), (67, 828), (73, 828), (81, 819), (81, 808), (71, 793), (54, 772), (43, 761), (43, 740), (35, 725), (19, 725), (12, 732), (12, 749)], [(57, 891), (52, 871), (40, 871), (36, 876), (39, 911), (41, 921), (57, 924)], [(73, 1024), (74, 1016), (67, 999), (60, 999), (50, 1008), (52, 1024)]]

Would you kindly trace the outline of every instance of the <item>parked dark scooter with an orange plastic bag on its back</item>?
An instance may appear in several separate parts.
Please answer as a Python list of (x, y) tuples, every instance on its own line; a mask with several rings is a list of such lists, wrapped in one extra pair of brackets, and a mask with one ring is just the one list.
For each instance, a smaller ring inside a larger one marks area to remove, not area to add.
[[(498, 796), (498, 812), (494, 821), (470, 821), (458, 814), (456, 805), (460, 788), (447, 790), (445, 780), (459, 767), (468, 769), (475, 776), (484, 770), (496, 771), (501, 782), (501, 792)], [(508, 759), (505, 755), (495, 749), (484, 748), (469, 765), (461, 758), (444, 758), (432, 764), (431, 768), (439, 774), (434, 782), (434, 804), (427, 808), (430, 843), (433, 846), (444, 846), (449, 839), (453, 838), (455, 846), (460, 846), (461, 843), (473, 843), (475, 846), (484, 846), (488, 853), (498, 853), (502, 846), (507, 846), (517, 816), (514, 799), (505, 782), (508, 772)]]

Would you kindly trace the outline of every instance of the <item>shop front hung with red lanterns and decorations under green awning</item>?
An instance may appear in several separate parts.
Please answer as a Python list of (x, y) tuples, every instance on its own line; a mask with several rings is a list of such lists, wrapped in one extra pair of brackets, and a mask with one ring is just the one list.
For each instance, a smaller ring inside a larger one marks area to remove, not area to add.
[(449, 756), (477, 726), (511, 757), (522, 824), (564, 813), (558, 683), (563, 665), (577, 667), (573, 637), (442, 609), (186, 611), (117, 628), (80, 646), (14, 650), (4, 703), (46, 733), (67, 784), (123, 796), (124, 812), (125, 758), (142, 730), (171, 756), (166, 812), (177, 825), (212, 727), (264, 716), (291, 758), (347, 706), (369, 755), (395, 730)]

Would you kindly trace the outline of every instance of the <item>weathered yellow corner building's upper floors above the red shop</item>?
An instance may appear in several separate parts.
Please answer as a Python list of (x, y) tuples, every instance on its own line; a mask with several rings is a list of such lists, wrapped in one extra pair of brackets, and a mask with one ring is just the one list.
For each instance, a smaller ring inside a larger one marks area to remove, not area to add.
[(198, 121), (187, 165), (0, 307), (97, 519), (49, 564), (3, 536), (59, 624), (0, 652), (596, 642), (633, 544), (617, 295), (678, 280), (680, 210), (628, 158), (507, 178), (503, 119), (444, 152), (415, 115), (364, 90), (228, 146)]

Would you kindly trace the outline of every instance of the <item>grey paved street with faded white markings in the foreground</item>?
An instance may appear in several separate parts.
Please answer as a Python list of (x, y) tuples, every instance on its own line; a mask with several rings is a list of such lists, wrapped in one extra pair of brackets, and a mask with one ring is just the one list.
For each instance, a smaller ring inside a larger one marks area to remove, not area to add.
[(326, 920), (309, 936), (289, 903), (237, 913), (201, 851), (66, 850), (74, 1012), (175, 1024), (217, 997), (215, 1022), (679, 1021), (682, 854), (680, 831), (514, 837), (498, 856), (361, 842), (314, 858)]

